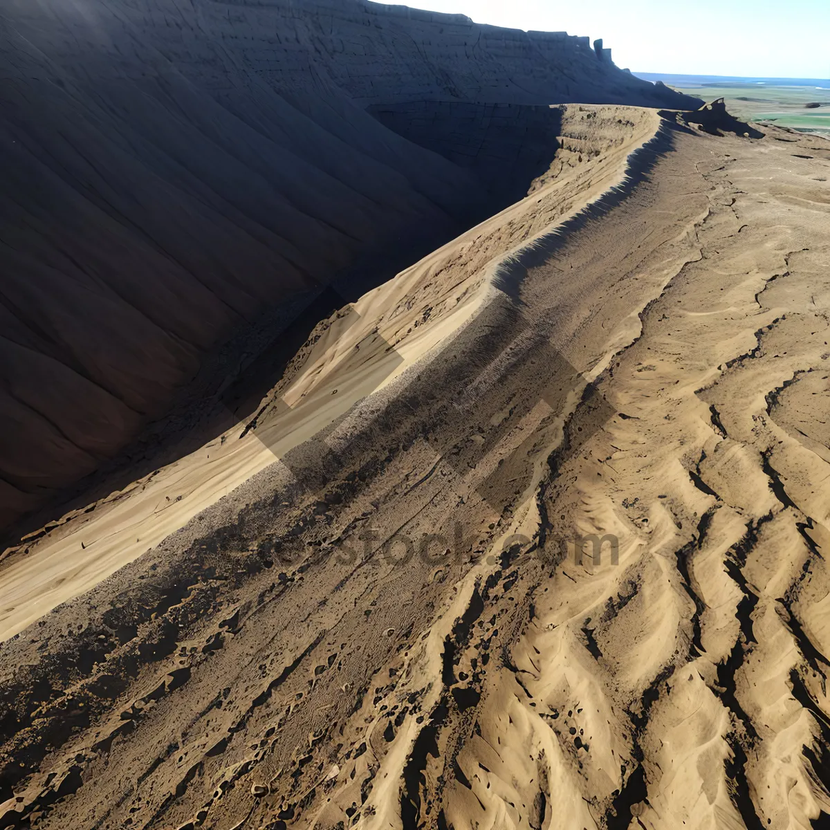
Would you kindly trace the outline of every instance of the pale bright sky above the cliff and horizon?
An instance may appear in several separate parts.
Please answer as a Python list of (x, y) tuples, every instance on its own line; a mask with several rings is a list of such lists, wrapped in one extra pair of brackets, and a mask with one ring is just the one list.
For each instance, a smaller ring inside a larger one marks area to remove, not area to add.
[(496, 26), (602, 37), (614, 63), (632, 71), (830, 77), (830, 0), (403, 2)]

